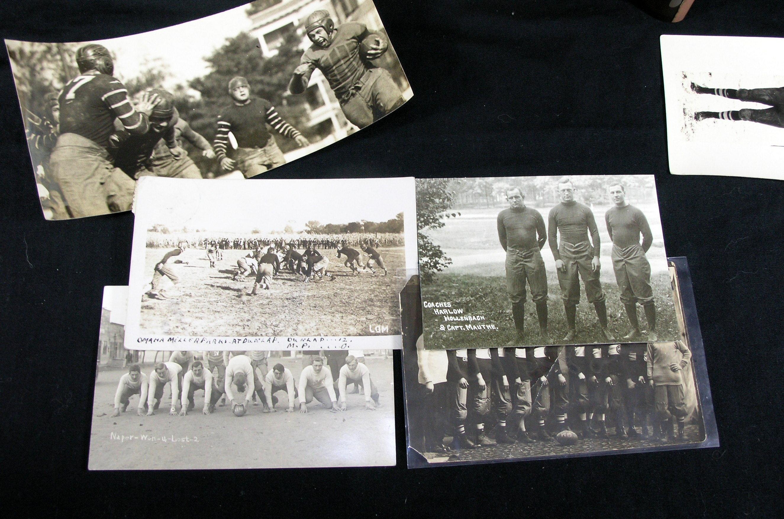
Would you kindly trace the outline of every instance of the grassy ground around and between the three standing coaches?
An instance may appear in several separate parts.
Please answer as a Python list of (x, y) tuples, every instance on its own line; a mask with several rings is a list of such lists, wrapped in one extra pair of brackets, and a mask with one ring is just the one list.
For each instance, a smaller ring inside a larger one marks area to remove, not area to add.
[[(605, 207), (593, 208), (597, 216), (597, 226), (601, 237), (601, 285), (607, 301), (609, 329), (616, 339), (629, 332), (626, 310), (619, 299), (619, 289), (612, 269), (610, 252), (612, 242), (604, 225)], [(677, 338), (677, 320), (670, 288), (670, 274), (666, 262), (666, 252), (659, 223), (659, 212), (655, 206), (641, 206), (648, 216), (654, 241), (648, 250), (648, 261), (652, 269), (652, 285), (657, 308), (656, 332), (660, 340)], [(423, 302), (451, 302), (452, 308), (463, 309), (463, 314), (484, 316), (484, 321), (466, 321), (473, 325), (495, 325), (497, 330), (441, 330), (444, 325), (466, 325), (466, 322), (447, 322), (434, 314), (433, 309), (424, 308), (425, 343), (428, 348), (454, 349), (466, 347), (499, 347), (514, 338), (509, 296), (506, 294), (506, 273), (504, 261), (506, 253), (498, 241), (496, 217), (501, 209), (461, 210), (461, 216), (445, 221), (445, 227), (428, 230), (427, 234), (437, 245), (441, 245), (452, 265), (437, 273), (433, 281), (422, 284)], [(538, 209), (545, 222), (549, 209)], [(548, 322), (550, 343), (560, 343), (566, 335), (567, 326), (564, 306), (561, 302), (561, 288), (555, 268), (555, 260), (550, 252), (549, 243), (542, 250), (547, 270), (549, 302)], [(600, 339), (598, 321), (593, 305), (587, 303), (585, 287), (580, 285), (581, 301), (577, 307), (577, 326), (579, 343), (606, 342)], [(638, 307), (641, 328), (647, 323), (641, 307)], [(529, 346), (543, 343), (539, 336), (539, 324), (535, 307), (528, 293), (525, 306), (526, 339)]]

